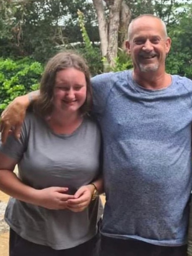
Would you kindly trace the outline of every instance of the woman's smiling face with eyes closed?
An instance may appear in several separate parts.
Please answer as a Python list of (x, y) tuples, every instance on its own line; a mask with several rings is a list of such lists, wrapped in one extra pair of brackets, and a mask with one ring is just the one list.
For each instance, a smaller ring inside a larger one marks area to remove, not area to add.
[(58, 111), (77, 112), (86, 100), (86, 78), (73, 67), (56, 74), (53, 105)]

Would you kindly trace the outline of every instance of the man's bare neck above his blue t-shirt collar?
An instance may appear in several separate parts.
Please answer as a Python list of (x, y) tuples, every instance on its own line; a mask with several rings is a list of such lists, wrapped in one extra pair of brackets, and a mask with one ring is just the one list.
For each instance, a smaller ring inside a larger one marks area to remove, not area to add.
[(133, 71), (133, 79), (136, 83), (142, 86), (145, 89), (158, 90), (168, 87), (172, 78), (170, 74), (166, 72), (134, 72)]

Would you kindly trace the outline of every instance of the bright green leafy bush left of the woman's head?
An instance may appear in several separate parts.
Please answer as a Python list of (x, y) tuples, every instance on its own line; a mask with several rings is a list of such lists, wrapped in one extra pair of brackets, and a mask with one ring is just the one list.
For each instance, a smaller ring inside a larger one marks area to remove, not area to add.
[(0, 58), (0, 112), (15, 97), (38, 89), (42, 71), (42, 64), (29, 58)]

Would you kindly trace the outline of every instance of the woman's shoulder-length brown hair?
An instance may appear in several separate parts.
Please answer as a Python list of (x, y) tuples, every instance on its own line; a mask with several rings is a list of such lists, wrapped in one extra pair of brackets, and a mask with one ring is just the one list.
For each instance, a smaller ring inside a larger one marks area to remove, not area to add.
[(73, 67), (84, 73), (86, 79), (86, 100), (80, 108), (81, 114), (86, 114), (92, 106), (92, 88), (90, 72), (86, 61), (79, 54), (72, 51), (57, 53), (47, 62), (40, 82), (40, 95), (33, 105), (33, 110), (45, 117), (53, 111), (53, 89), (56, 73)]

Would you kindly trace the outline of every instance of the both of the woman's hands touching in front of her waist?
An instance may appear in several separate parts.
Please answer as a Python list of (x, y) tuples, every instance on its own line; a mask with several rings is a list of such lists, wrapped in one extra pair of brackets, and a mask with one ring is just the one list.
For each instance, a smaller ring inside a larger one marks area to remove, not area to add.
[(74, 212), (83, 211), (92, 198), (92, 188), (81, 186), (75, 195), (67, 194), (68, 188), (48, 187), (38, 190), (37, 204), (51, 210), (69, 209)]

